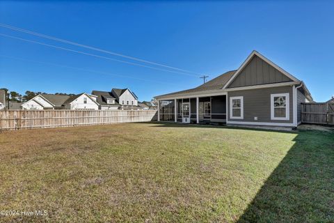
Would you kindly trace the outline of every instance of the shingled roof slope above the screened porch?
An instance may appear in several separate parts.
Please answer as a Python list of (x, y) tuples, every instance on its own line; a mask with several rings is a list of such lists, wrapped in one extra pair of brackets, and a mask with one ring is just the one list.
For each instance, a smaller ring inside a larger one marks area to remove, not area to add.
[(223, 75), (219, 75), (218, 77), (210, 80), (209, 82), (206, 82), (205, 84), (202, 84), (194, 89), (187, 89), (184, 91), (177, 91), (173, 93), (168, 93), (165, 95), (159, 95), (155, 98), (166, 98), (166, 97), (173, 97), (184, 93), (199, 93), (202, 91), (214, 91), (223, 89), (223, 86), (228, 82), (228, 80), (234, 75), (234, 72), (237, 70), (230, 70), (228, 72), (223, 73)]

